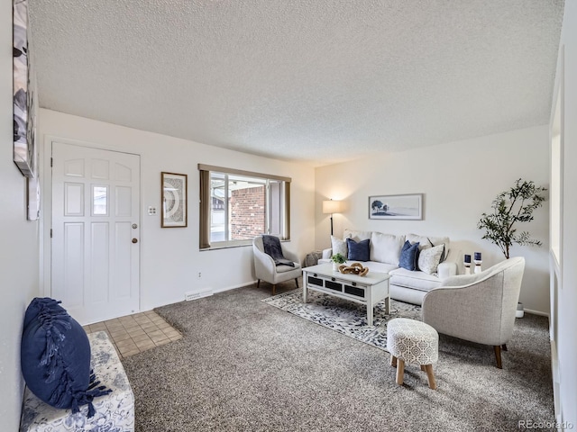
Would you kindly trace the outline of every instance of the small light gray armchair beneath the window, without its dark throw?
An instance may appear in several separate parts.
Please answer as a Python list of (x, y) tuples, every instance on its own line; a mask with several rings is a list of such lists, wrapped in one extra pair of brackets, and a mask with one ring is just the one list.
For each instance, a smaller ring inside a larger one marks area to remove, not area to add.
[(252, 239), (252, 252), (254, 255), (254, 272), (257, 278), (257, 288), (261, 286), (261, 280), (272, 284), (272, 295), (277, 291), (277, 284), (294, 279), (298, 288), (298, 276), (302, 275), (302, 268), (298, 263), (296, 254), (290, 252), (284, 244), (280, 244), (282, 255), (292, 261), (295, 266), (275, 266), (274, 260), (264, 252), (262, 236)]

